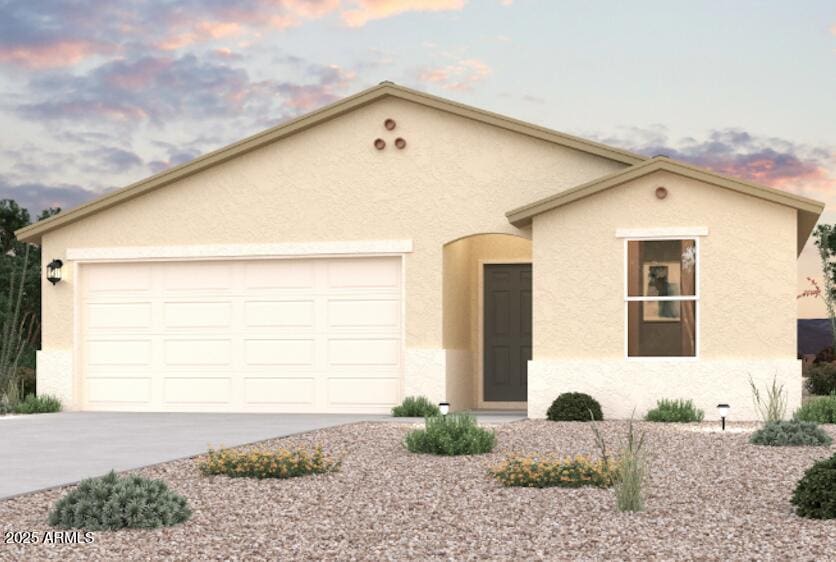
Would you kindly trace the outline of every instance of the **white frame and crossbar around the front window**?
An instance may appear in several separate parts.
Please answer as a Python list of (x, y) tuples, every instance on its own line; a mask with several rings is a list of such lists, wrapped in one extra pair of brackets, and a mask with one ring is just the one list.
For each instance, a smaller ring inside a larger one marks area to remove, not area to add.
[[(668, 235), (668, 236), (630, 236), (624, 237), (624, 359), (627, 361), (680, 361), (692, 362), (700, 358), (700, 236), (699, 235)], [(664, 240), (693, 240), (694, 241), (694, 295), (676, 295), (668, 297), (647, 297), (638, 296), (631, 297), (629, 290), (630, 282), (630, 263), (628, 255), (628, 246), (630, 242), (655, 242)], [(631, 356), (629, 348), (630, 339), (630, 303), (631, 302), (648, 302), (648, 301), (691, 301), (694, 303), (694, 355), (693, 356), (679, 356), (679, 355), (664, 355), (664, 356)]]

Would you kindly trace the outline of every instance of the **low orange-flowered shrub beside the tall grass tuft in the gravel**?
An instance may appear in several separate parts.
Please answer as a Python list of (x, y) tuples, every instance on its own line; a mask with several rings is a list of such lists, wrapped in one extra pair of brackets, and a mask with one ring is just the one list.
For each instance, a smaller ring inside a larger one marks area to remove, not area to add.
[(505, 486), (608, 488), (612, 486), (614, 470), (611, 463), (582, 455), (566, 459), (511, 455), (491, 468), (489, 474)]

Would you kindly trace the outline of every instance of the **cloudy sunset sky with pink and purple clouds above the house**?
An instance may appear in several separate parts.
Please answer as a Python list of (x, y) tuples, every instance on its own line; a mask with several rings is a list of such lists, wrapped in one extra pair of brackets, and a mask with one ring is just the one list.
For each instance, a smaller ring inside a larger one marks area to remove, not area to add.
[(836, 222), (832, 0), (0, 0), (0, 198), (70, 208), (382, 80)]

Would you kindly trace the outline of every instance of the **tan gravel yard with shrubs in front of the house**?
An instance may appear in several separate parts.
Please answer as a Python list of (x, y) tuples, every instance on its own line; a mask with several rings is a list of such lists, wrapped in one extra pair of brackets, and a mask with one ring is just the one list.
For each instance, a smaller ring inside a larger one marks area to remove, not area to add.
[[(194, 510), (183, 525), (95, 534), (82, 545), (0, 545), (0, 558), (99, 559), (781, 559), (826, 560), (836, 521), (796, 517), (796, 481), (829, 448), (749, 445), (754, 425), (637, 424), (647, 431), (647, 511), (622, 514), (594, 488), (504, 488), (486, 476), (506, 453), (596, 454), (587, 424), (498, 426), (494, 453), (441, 458), (401, 445), (408, 426), (359, 423), (266, 444), (321, 444), (340, 472), (289, 480), (202, 477), (187, 459), (138, 471)], [(625, 422), (599, 427), (614, 447)], [(836, 427), (825, 426), (836, 440)], [(220, 445), (220, 444), (217, 444)], [(91, 475), (94, 476), (94, 475)], [(4, 531), (43, 535), (66, 489), (0, 502)]]

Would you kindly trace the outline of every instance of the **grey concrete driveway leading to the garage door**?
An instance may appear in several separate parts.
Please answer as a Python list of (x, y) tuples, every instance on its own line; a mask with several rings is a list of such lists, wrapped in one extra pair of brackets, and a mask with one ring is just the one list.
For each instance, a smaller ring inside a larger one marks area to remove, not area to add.
[(350, 414), (62, 412), (0, 417), (0, 498), (233, 446), (353, 423)]

